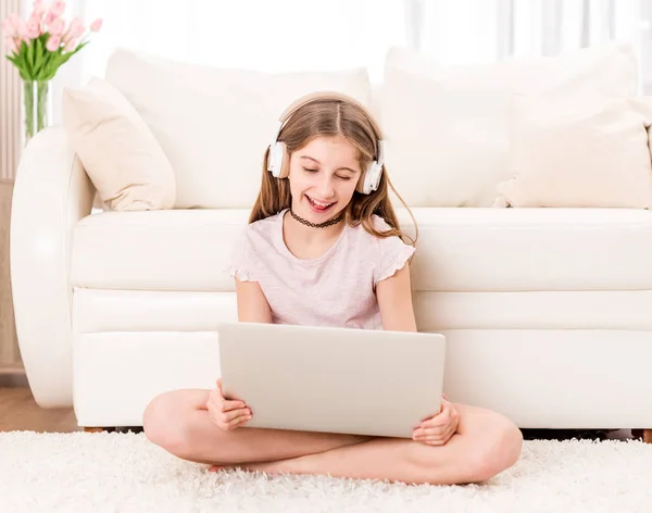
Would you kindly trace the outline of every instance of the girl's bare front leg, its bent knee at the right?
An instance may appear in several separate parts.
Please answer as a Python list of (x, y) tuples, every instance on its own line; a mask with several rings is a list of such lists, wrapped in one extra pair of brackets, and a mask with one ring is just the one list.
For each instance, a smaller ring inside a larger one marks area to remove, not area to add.
[(516, 463), (523, 436), (514, 424), (481, 408), (455, 404), (455, 409), (457, 433), (444, 446), (377, 438), (318, 454), (240, 466), (268, 473), (453, 485), (487, 480)]

